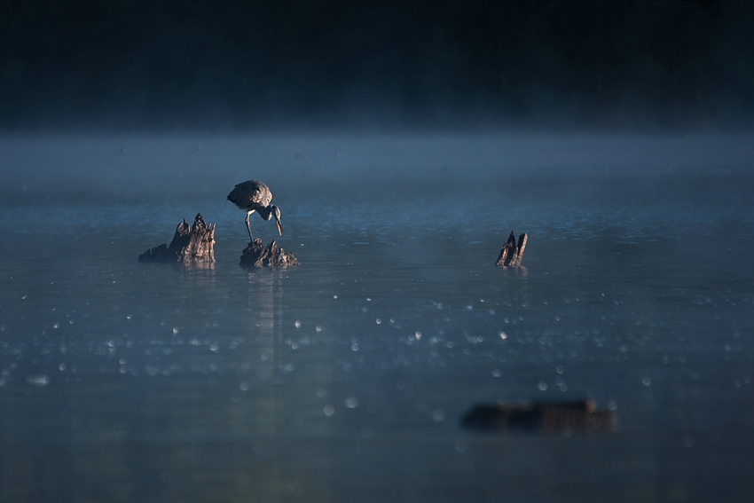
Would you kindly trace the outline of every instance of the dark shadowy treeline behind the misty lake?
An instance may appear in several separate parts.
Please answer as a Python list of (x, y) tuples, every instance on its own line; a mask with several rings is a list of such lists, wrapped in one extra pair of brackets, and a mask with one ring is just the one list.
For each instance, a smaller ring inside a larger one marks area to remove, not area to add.
[(747, 127), (746, 0), (0, 0), (0, 128)]

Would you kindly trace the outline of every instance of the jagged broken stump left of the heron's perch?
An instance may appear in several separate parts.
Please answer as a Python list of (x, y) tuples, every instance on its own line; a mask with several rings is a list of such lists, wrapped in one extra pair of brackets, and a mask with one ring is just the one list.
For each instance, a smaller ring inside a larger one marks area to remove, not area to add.
[(193, 220), (193, 225), (184, 221), (178, 224), (176, 234), (170, 241), (170, 246), (161, 244), (159, 247), (146, 250), (138, 255), (141, 263), (185, 263), (192, 265), (206, 265), (215, 262), (215, 224), (205, 224), (199, 213)]

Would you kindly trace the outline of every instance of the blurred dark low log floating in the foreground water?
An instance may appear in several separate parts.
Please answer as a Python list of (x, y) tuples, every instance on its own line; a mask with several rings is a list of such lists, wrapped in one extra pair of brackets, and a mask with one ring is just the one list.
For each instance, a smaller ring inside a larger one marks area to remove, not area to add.
[(593, 399), (566, 403), (475, 405), (461, 428), (486, 432), (598, 433), (615, 431), (617, 413), (598, 411)]

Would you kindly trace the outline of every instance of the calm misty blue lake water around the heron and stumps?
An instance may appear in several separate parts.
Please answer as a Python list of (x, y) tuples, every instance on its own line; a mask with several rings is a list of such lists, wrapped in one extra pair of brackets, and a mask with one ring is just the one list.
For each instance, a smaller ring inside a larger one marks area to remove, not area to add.
[[(0, 500), (751, 501), (750, 139), (2, 138)], [(137, 263), (197, 212), (214, 267)]]

